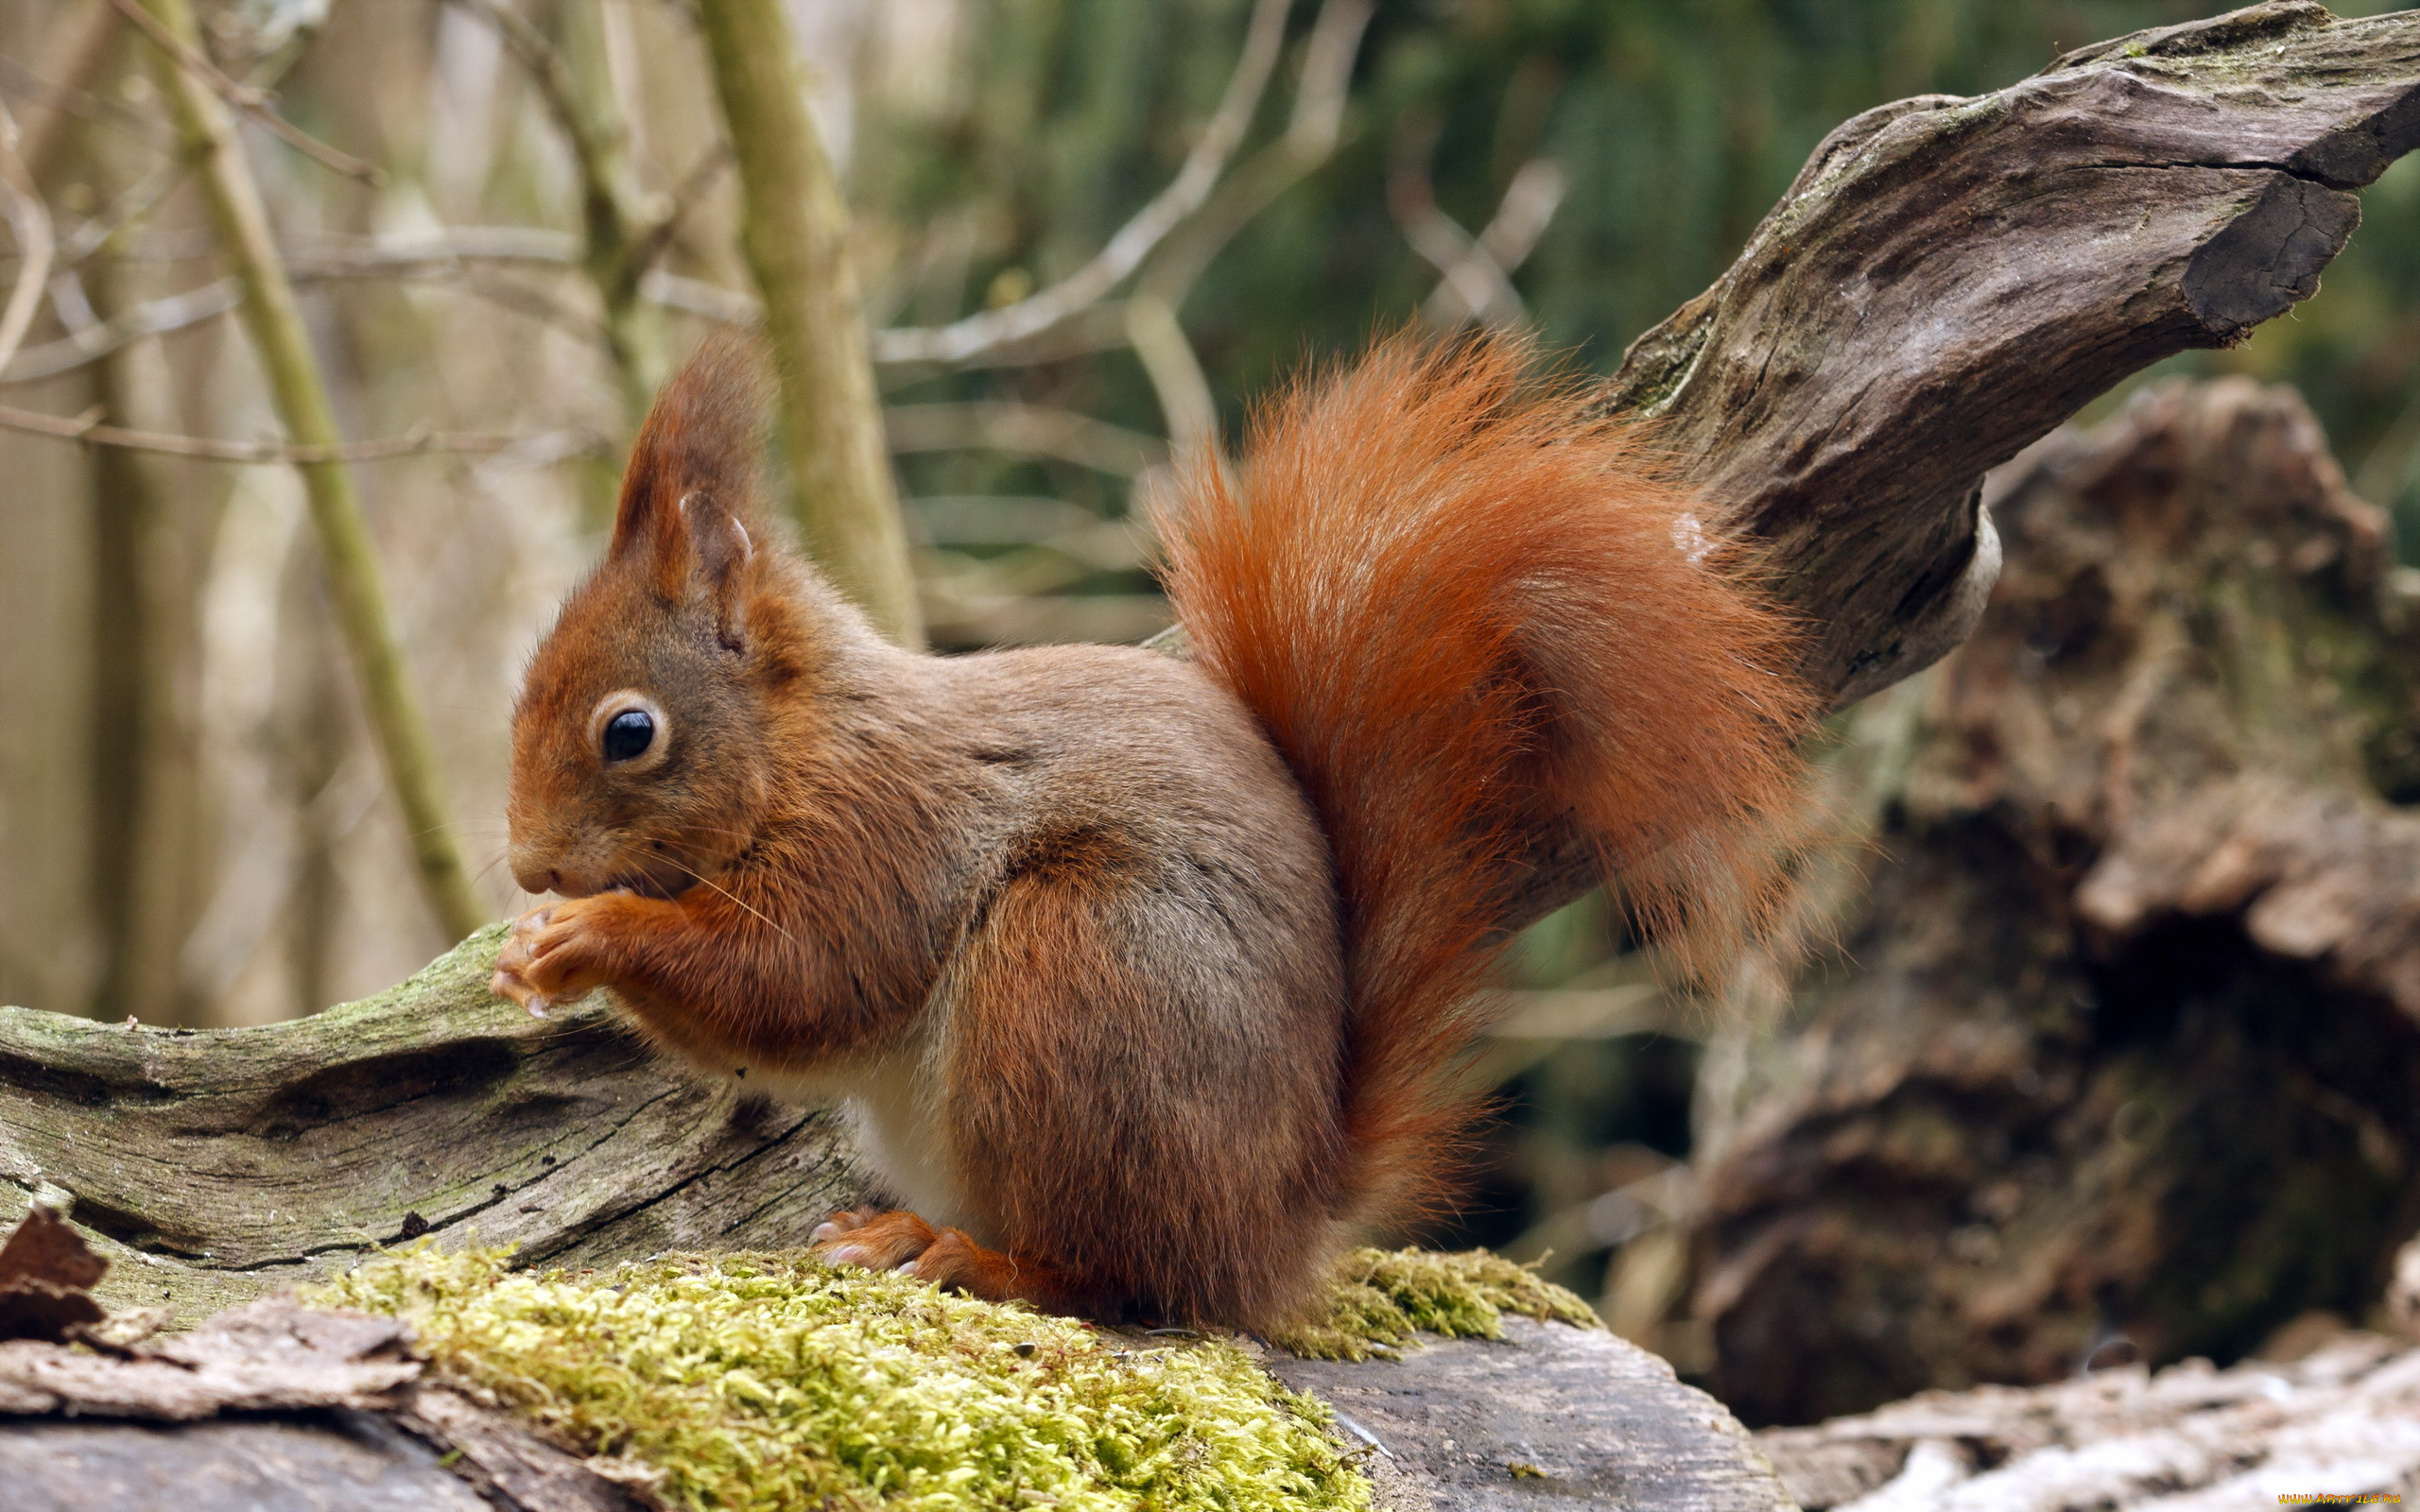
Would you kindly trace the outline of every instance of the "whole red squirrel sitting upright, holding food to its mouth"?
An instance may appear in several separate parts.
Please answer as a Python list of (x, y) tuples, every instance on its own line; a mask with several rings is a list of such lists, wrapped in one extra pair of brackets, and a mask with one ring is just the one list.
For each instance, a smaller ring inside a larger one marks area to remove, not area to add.
[(1435, 1200), (1520, 842), (1679, 960), (1776, 912), (1793, 622), (1636, 426), (1520, 339), (1379, 341), (1159, 510), (1193, 658), (886, 644), (753, 503), (707, 346), (513, 709), (494, 987), (837, 1101), (898, 1212), (825, 1256), (1270, 1328)]

